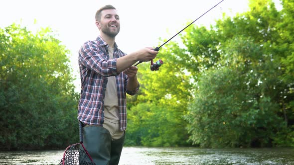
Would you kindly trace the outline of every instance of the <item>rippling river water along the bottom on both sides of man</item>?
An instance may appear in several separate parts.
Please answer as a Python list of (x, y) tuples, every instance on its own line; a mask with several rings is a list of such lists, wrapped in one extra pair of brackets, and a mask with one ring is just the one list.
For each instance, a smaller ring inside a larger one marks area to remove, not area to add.
[[(0, 165), (58, 165), (63, 152), (0, 152)], [(124, 147), (119, 165), (294, 165), (294, 148)]]

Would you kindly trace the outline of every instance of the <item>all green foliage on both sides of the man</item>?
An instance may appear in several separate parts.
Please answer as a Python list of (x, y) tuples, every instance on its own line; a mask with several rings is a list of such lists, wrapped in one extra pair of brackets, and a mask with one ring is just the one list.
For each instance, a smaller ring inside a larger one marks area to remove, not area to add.
[[(159, 71), (140, 64), (125, 145), (293, 147), (294, 1), (281, 4), (250, 0), (249, 11), (164, 45)], [(75, 143), (68, 50), (49, 28), (15, 24), (0, 29), (0, 43), (0, 150)]]

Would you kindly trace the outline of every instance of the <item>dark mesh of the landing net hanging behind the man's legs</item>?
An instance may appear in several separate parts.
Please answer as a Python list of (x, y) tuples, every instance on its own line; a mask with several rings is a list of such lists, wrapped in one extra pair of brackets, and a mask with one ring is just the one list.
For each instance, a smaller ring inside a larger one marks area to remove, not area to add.
[(69, 146), (64, 151), (64, 157), (59, 165), (95, 165), (83, 149), (81, 143)]

